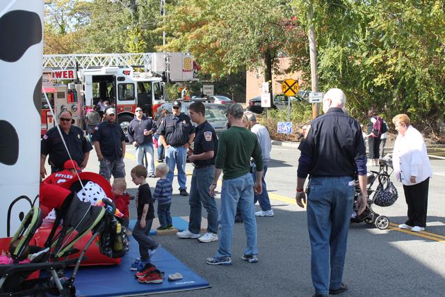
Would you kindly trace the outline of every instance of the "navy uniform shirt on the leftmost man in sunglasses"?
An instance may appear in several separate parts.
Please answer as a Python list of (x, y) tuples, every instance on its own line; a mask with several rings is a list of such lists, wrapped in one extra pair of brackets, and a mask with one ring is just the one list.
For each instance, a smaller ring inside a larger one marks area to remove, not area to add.
[[(83, 131), (79, 127), (72, 125), (68, 134), (65, 134), (62, 129), (60, 130), (72, 159), (80, 166), (83, 162), (83, 155), (92, 150), (90, 143), (83, 136)], [(52, 127), (44, 134), (40, 143), (40, 152), (45, 156), (49, 154), (49, 163), (57, 170), (63, 170), (63, 163), (70, 159), (57, 127)]]

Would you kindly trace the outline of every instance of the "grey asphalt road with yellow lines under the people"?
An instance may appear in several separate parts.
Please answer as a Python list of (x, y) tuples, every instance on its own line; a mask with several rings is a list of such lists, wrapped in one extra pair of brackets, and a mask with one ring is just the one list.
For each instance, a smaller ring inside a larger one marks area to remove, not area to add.
[[(134, 193), (129, 171), (135, 165), (131, 145), (125, 158), (127, 185)], [(243, 224), (235, 224), (232, 266), (209, 266), (218, 242), (200, 243), (196, 239), (178, 239), (176, 235), (154, 236), (164, 248), (206, 278), (211, 289), (165, 294), (165, 296), (312, 296), (310, 248), (305, 209), (294, 200), (296, 148), (273, 145), (266, 182), (275, 216), (257, 218), (259, 262), (243, 262), (245, 247)], [(445, 292), (445, 161), (432, 160), (428, 223), (426, 232), (414, 234), (399, 230), (407, 207), (401, 184), (395, 182), (399, 199), (391, 207), (375, 207), (389, 217), (388, 230), (365, 223), (350, 225), (348, 254), (343, 281), (350, 288), (342, 296), (444, 296)], [(88, 171), (98, 172), (92, 151)], [(376, 169), (376, 168), (372, 168)], [(193, 170), (187, 164), (186, 171)], [(187, 183), (190, 184), (188, 176)], [(154, 187), (156, 179), (147, 179)], [(175, 177), (172, 216), (188, 216), (188, 198), (179, 195)], [(220, 185), (218, 186), (220, 189)], [(220, 197), (217, 195), (218, 205)], [(131, 201), (133, 214), (134, 202)], [(256, 205), (257, 210), (259, 206)], [(203, 216), (206, 213), (203, 211)]]

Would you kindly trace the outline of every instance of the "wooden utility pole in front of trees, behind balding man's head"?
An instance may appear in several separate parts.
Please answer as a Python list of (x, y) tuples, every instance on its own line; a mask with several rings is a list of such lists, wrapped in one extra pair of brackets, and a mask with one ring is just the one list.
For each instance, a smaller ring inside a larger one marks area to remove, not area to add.
[[(312, 0), (307, 1), (307, 22), (309, 24), (309, 55), (311, 59), (311, 84), (312, 92), (318, 92), (318, 75), (317, 75), (317, 46), (315, 39), (315, 28), (312, 18), (314, 17), (314, 6)], [(312, 118), (318, 116), (318, 103), (312, 104)]]

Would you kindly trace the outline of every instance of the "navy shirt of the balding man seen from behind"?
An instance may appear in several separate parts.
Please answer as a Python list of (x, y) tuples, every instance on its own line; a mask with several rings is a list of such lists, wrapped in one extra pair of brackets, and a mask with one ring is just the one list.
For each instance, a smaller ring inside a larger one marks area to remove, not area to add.
[[(312, 177), (366, 175), (366, 150), (359, 123), (339, 108), (330, 108), (311, 123), (307, 138), (300, 143), (302, 159), (309, 160)], [(298, 164), (298, 177), (306, 177)], [(364, 172), (363, 172), (364, 171)]]

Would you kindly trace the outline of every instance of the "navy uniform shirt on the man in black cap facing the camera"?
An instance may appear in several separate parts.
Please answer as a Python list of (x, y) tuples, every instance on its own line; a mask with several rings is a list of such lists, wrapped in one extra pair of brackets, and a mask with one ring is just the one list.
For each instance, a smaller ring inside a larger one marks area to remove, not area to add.
[(188, 115), (184, 113), (181, 113), (179, 116), (171, 114), (161, 121), (157, 133), (165, 137), (168, 145), (181, 147), (188, 143), (190, 134), (195, 133), (195, 127), (193, 127)]

